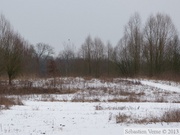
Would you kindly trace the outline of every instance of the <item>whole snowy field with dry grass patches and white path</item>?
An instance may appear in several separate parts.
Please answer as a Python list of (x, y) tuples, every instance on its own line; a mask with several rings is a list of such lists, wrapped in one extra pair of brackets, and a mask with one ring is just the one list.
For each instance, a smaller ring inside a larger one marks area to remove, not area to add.
[[(51, 80), (32, 81), (33, 87), (47, 87)], [(122, 135), (126, 127), (180, 127), (178, 122), (137, 122), (179, 109), (179, 83), (63, 78), (53, 86), (78, 92), (21, 96), (23, 106), (0, 111), (0, 135)], [(121, 122), (119, 115), (128, 117)]]

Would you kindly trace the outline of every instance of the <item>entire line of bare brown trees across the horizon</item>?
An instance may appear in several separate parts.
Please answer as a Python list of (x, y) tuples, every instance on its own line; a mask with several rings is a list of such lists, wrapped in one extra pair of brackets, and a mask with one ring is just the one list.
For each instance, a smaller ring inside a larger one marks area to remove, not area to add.
[(117, 45), (87, 36), (76, 50), (70, 41), (57, 57), (45, 43), (31, 45), (15, 32), (10, 22), (0, 17), (0, 75), (9, 84), (24, 76), (135, 77), (180, 75), (180, 41), (170, 16), (150, 15), (142, 24), (135, 13), (124, 27)]

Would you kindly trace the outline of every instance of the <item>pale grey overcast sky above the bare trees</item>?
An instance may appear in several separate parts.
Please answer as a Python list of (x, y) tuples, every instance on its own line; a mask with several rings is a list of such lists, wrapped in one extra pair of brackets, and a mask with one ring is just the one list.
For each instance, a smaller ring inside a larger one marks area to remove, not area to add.
[(0, 0), (0, 13), (15, 30), (56, 53), (68, 39), (80, 47), (88, 35), (116, 45), (135, 12), (143, 22), (152, 13), (166, 13), (180, 31), (180, 0)]

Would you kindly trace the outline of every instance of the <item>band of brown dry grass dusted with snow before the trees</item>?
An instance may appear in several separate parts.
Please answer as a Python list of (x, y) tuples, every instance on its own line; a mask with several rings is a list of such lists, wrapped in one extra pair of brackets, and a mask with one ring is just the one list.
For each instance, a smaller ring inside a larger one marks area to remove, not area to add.
[[(30, 79), (29, 79), (30, 80)], [(101, 97), (108, 97), (109, 102), (170, 102), (171, 97), (175, 97), (173, 102), (180, 102), (175, 93), (161, 92), (152, 89), (151, 95), (145, 93), (144, 86), (139, 80), (126, 80), (122, 78), (101, 78), (98, 80), (102, 84), (91, 85), (96, 80), (93, 78), (49, 78), (40, 80), (14, 80), (14, 86), (8, 86), (5, 81), (0, 83), (0, 95), (34, 95), (34, 94), (74, 94), (77, 97), (73, 102), (99, 102)], [(89, 82), (88, 82), (89, 81)], [(116, 85), (110, 85), (112, 82)], [(76, 83), (84, 84), (81, 88), (76, 87)], [(89, 84), (90, 83), (90, 84)], [(135, 85), (138, 85), (137, 88)], [(76, 87), (76, 88), (75, 88)], [(76, 94), (75, 94), (76, 93)], [(172, 95), (173, 94), (173, 95)], [(86, 99), (85, 99), (86, 98)], [(45, 99), (46, 100), (46, 99)], [(48, 99), (49, 100), (49, 99)], [(102, 100), (101, 100), (102, 101)]]

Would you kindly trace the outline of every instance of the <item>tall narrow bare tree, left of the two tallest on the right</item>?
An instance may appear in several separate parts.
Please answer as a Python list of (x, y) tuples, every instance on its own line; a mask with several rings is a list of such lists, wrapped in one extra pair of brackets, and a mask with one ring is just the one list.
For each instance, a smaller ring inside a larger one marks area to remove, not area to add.
[(125, 26), (124, 36), (115, 48), (115, 61), (121, 74), (126, 76), (139, 74), (142, 54), (141, 48), (141, 19), (139, 14), (135, 13)]

